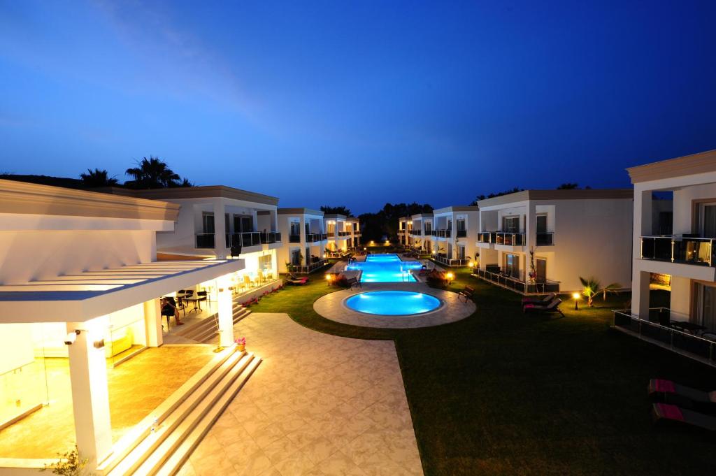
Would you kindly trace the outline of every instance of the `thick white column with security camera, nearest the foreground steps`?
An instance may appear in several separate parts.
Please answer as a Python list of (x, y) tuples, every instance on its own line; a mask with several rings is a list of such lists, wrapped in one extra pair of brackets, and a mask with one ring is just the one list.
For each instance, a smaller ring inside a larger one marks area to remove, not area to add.
[(84, 323), (67, 323), (67, 332), (80, 330), (73, 344), (68, 346), (69, 380), (72, 388), (74, 432), (79, 454), (95, 467), (112, 450), (110, 397), (107, 391), (107, 362), (105, 349), (94, 346), (93, 335)]

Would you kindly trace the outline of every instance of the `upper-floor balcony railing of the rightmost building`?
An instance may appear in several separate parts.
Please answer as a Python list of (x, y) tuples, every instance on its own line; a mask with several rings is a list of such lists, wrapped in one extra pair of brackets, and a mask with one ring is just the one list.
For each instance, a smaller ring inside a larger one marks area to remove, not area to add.
[(715, 266), (713, 242), (716, 238), (677, 235), (642, 236), (642, 259), (672, 263)]

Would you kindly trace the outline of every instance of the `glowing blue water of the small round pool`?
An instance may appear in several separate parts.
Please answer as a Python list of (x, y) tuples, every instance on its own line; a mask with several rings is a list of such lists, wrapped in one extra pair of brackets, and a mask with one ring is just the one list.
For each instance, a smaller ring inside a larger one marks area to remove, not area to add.
[(347, 298), (346, 306), (366, 314), (406, 316), (437, 309), (440, 300), (429, 294), (412, 291), (370, 291)]

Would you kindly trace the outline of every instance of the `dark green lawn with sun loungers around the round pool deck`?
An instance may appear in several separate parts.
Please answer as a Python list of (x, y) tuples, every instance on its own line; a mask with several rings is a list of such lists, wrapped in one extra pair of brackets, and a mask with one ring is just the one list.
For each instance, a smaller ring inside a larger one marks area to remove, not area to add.
[[(368, 329), (313, 311), (333, 291), (311, 276), (263, 298), (255, 312), (287, 312), (339, 336), (394, 339), (426, 475), (705, 475), (711, 434), (654, 427), (649, 378), (716, 388), (716, 371), (609, 329), (628, 295), (574, 301), (566, 317), (523, 315), (520, 296), (458, 272), (477, 311), (426, 329)], [(584, 303), (582, 303), (584, 304)]]

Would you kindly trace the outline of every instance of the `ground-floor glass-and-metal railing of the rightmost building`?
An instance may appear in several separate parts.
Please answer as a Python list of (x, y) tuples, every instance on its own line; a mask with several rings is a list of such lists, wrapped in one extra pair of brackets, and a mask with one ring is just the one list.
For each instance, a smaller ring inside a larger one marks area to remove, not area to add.
[[(639, 336), (639, 339), (647, 341), (655, 341), (663, 346), (667, 346), (673, 351), (691, 354), (699, 359), (708, 361), (710, 364), (716, 364), (716, 342), (710, 339), (704, 339), (701, 336), (688, 334), (679, 331), (671, 326), (664, 326), (651, 319), (654, 315), (658, 316), (662, 313), (671, 313), (668, 308), (650, 308), (649, 320), (634, 316), (631, 311), (623, 309), (614, 311), (614, 327), (626, 329)], [(668, 319), (668, 316), (667, 316)]]

